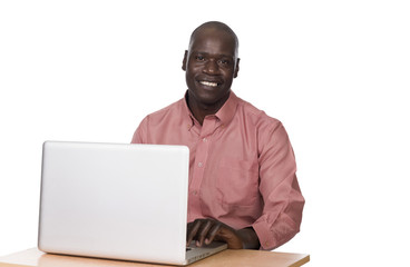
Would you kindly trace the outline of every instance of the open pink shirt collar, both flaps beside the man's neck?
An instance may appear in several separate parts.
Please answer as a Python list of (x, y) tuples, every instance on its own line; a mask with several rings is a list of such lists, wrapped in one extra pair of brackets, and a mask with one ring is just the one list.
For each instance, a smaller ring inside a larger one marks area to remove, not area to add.
[[(195, 123), (199, 125), (199, 122), (195, 119), (194, 115), (191, 112), (191, 109), (188, 108), (188, 105), (186, 102), (187, 95), (188, 95), (188, 91), (186, 91), (184, 96), (184, 107), (188, 113), (189, 121), (192, 122), (191, 126), (193, 127)], [(222, 106), (222, 108), (215, 113), (215, 117), (221, 120), (222, 125), (226, 126), (227, 123), (231, 122), (231, 120), (233, 119), (235, 115), (237, 103), (238, 103), (238, 98), (231, 90), (230, 98), (226, 100), (224, 106)]]

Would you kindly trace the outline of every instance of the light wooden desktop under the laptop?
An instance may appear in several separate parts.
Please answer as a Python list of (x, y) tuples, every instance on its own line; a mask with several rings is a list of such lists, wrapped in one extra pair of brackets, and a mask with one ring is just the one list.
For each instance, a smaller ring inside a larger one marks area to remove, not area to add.
[[(214, 256), (196, 261), (189, 267), (297, 267), (310, 260), (309, 255), (285, 254), (258, 250), (224, 250)], [(0, 267), (154, 267), (153, 265), (120, 260), (95, 259), (43, 254), (31, 248), (9, 256), (0, 257)]]

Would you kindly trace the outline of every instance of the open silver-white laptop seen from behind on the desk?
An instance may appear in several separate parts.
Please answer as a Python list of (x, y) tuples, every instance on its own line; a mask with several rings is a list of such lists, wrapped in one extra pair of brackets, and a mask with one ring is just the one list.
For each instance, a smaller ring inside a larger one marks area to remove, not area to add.
[(46, 141), (38, 248), (170, 265), (222, 251), (186, 248), (188, 169), (184, 146)]

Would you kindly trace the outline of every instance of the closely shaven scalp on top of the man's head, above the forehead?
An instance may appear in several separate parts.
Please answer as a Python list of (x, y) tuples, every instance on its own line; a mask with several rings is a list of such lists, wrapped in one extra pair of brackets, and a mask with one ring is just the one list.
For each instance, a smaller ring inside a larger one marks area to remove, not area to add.
[(204, 33), (224, 33), (225, 36), (230, 37), (231, 41), (235, 46), (235, 58), (237, 58), (240, 41), (235, 32), (227, 24), (219, 21), (208, 21), (196, 28), (191, 34), (188, 50), (191, 50), (191, 47), (195, 41), (196, 37)]

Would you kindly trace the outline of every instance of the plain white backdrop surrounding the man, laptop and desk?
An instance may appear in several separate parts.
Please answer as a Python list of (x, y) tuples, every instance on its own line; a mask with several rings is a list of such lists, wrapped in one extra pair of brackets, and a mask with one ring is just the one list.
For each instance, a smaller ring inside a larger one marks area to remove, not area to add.
[(233, 90), (283, 121), (306, 198), (277, 251), (408, 263), (408, 1), (1, 1), (0, 256), (37, 241), (45, 140), (129, 142), (183, 97), (195, 27), (240, 38)]

